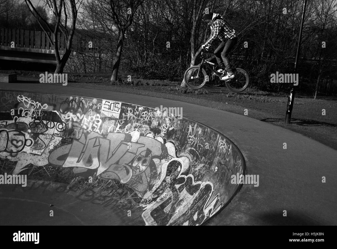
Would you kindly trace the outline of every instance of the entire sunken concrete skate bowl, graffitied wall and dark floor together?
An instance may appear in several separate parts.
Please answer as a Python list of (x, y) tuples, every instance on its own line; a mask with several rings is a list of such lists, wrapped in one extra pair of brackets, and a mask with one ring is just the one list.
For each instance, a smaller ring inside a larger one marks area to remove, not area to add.
[(63, 94), (0, 99), (0, 225), (201, 225), (239, 190), (240, 150), (192, 119)]

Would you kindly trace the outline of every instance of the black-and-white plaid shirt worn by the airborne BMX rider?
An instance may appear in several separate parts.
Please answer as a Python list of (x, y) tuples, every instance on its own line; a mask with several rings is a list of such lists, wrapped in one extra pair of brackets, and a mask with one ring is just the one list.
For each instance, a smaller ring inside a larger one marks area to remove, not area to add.
[(211, 46), (216, 37), (219, 37), (222, 42), (225, 42), (226, 40), (236, 37), (235, 30), (231, 29), (222, 18), (216, 19), (211, 25), (211, 37), (205, 45), (207, 47)]

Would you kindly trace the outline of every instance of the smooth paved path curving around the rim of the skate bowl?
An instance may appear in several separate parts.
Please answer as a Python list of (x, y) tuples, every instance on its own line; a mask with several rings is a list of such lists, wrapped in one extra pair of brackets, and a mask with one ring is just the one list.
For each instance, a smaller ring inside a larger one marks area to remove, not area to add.
[[(337, 151), (301, 134), (248, 116), (109, 89), (22, 83), (0, 83), (0, 88), (73, 94), (152, 108), (182, 107), (185, 117), (231, 139), (245, 157), (246, 174), (259, 175), (258, 187), (244, 185), (206, 225), (337, 225)], [(322, 183), (323, 176), (326, 183)], [(283, 210), (287, 217), (283, 217)]]

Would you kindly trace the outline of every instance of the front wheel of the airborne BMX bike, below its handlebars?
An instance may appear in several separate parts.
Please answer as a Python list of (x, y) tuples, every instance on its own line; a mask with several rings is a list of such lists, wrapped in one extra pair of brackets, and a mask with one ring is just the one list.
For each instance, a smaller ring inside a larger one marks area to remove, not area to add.
[(191, 66), (186, 70), (184, 75), (185, 84), (193, 90), (202, 88), (207, 82), (208, 76), (204, 68), (202, 68), (197, 77), (199, 68), (200, 66)]

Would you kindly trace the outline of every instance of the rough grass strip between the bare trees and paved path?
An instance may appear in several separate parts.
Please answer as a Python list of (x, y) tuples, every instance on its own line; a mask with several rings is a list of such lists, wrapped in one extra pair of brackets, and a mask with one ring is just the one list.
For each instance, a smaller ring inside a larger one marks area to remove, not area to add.
[[(8, 72), (8, 71), (7, 71)], [(42, 72), (15, 71), (19, 80), (38, 81)], [(337, 149), (337, 98), (295, 94), (292, 123), (284, 124), (287, 104), (286, 92), (260, 91), (253, 87), (243, 93), (232, 93), (224, 85), (207, 84), (199, 90), (180, 87), (181, 80), (128, 78), (121, 75), (111, 82), (110, 74), (68, 74), (68, 86), (127, 92), (139, 95), (172, 99), (221, 109), (272, 123), (298, 132)], [(51, 83), (52, 84), (52, 83)], [(58, 84), (58, 83), (54, 83)], [(322, 115), (325, 110), (326, 115)]]

